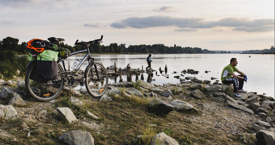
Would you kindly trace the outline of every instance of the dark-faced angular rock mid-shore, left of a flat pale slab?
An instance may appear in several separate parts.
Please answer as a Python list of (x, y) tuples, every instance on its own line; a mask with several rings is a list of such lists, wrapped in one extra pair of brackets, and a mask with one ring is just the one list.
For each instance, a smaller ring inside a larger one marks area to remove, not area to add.
[(170, 104), (163, 102), (160, 98), (154, 98), (149, 103), (151, 108), (154, 108), (157, 112), (168, 114), (174, 110), (174, 107)]

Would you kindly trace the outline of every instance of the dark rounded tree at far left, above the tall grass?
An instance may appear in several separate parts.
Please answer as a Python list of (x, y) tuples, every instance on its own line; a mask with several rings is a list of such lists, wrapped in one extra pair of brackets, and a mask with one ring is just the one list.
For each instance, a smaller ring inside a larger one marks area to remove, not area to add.
[(19, 45), (18, 45), (19, 40), (17, 38), (12, 38), (12, 37), (6, 37), (2, 41), (0, 41), (0, 50), (13, 50), (13, 51), (18, 51)]

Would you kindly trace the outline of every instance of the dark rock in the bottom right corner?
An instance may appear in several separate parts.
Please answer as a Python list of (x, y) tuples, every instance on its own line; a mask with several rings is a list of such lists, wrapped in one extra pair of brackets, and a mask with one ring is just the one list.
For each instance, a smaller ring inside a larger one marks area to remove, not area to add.
[(275, 136), (274, 132), (259, 130), (256, 133), (258, 144), (274, 145)]

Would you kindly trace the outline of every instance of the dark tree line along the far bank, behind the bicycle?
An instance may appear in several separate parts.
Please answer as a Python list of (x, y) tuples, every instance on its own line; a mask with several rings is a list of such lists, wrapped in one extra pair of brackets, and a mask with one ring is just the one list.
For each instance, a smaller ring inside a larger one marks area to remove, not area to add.
[[(17, 38), (6, 37), (0, 41), (0, 50), (13, 50), (16, 52), (21, 52), (26, 54), (26, 42), (18, 44), (19, 40)], [(71, 52), (76, 52), (79, 50), (85, 49), (82, 45), (70, 46), (60, 43), (61, 47), (69, 49)], [(181, 47), (176, 46), (168, 47), (164, 44), (153, 44), (153, 45), (129, 45), (128, 47), (125, 44), (118, 45), (117, 43), (111, 43), (110, 45), (101, 45), (91, 44), (92, 51), (94, 53), (155, 53), (156, 50), (158, 53), (216, 53), (215, 51), (210, 51), (207, 49), (201, 49), (198, 47)]]

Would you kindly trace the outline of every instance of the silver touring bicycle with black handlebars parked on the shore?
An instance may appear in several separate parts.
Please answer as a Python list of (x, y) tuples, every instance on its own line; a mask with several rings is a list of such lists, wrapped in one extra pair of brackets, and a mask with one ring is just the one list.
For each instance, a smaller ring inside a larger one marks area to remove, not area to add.
[[(26, 69), (26, 77), (25, 84), (27, 91), (39, 101), (51, 101), (59, 96), (62, 92), (64, 86), (73, 87), (76, 82), (80, 86), (86, 86), (87, 92), (94, 98), (100, 98), (107, 90), (108, 87), (108, 74), (106, 72), (105, 67), (101, 63), (95, 62), (95, 59), (92, 58), (90, 51), (92, 51), (92, 43), (99, 43), (102, 41), (103, 35), (101, 35), (101, 39), (96, 39), (89, 42), (75, 42), (75, 45), (84, 45), (86, 49), (80, 50), (78, 52), (73, 52), (69, 55), (75, 55), (78, 53), (87, 52), (85, 57), (80, 61), (77, 68), (75, 70), (67, 70), (65, 67), (65, 59), (58, 58), (58, 78), (55, 80), (50, 80), (48, 82), (43, 82), (41, 79), (37, 77), (37, 63), (36, 59), (31, 61)], [(60, 41), (64, 41), (64, 39), (60, 39)], [(59, 42), (59, 41), (58, 41)], [(50, 42), (51, 43), (51, 42)], [(89, 49), (90, 46), (90, 49)], [(67, 59), (67, 58), (66, 58)], [(84, 76), (83, 72), (79, 70), (84, 61), (88, 61)], [(61, 62), (63, 68), (61, 66)], [(81, 77), (79, 77), (81, 76)]]

